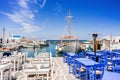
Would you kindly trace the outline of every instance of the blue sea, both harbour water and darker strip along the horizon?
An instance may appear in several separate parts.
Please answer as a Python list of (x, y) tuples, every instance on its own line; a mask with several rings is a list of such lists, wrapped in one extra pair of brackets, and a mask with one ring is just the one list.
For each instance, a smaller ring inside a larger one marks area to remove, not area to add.
[[(34, 57), (36, 54), (42, 52), (51, 52), (52, 57), (61, 57), (62, 54), (58, 53), (55, 50), (56, 45), (60, 42), (60, 40), (46, 40), (49, 43), (49, 46), (45, 46), (42, 48), (21, 48), (21, 52), (27, 52), (27, 57)], [(69, 40), (64, 40), (64, 42), (68, 42)], [(71, 40), (74, 41), (74, 40)], [(87, 40), (79, 40), (80, 42), (86, 42)]]

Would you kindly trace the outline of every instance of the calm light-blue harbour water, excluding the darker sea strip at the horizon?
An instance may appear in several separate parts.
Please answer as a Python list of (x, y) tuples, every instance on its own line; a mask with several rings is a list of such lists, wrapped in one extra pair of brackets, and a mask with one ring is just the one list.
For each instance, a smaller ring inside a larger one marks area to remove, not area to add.
[(50, 44), (47, 47), (43, 48), (23, 48), (21, 49), (22, 52), (28, 52), (28, 57), (34, 57), (36, 54), (39, 54), (40, 52), (52, 52), (52, 56), (56, 57), (56, 50), (55, 50), (56, 44)]

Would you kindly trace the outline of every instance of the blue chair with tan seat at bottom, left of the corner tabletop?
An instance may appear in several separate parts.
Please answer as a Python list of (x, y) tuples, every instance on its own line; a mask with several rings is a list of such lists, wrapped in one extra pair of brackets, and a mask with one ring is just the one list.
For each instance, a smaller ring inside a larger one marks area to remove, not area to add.
[(89, 70), (89, 78), (90, 80), (102, 80), (104, 74), (104, 65), (103, 64), (95, 64), (93, 68)]

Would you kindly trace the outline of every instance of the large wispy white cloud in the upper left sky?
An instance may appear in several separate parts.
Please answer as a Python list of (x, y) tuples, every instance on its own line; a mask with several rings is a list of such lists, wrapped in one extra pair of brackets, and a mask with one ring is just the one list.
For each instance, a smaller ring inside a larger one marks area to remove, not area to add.
[(13, 22), (19, 24), (22, 27), (23, 32), (31, 33), (38, 31), (40, 28), (35, 25), (35, 15), (28, 6), (29, 0), (18, 0), (17, 3), (20, 9), (14, 10), (13, 13), (0, 13), (8, 16)]

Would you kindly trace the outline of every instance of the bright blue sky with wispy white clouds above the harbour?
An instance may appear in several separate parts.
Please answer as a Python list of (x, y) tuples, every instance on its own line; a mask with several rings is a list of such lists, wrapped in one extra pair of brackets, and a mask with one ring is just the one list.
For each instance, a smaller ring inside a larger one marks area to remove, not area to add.
[(120, 36), (119, 0), (0, 0), (0, 36), (5, 27), (6, 35), (59, 39), (68, 33), (69, 10), (71, 34), (79, 39)]

